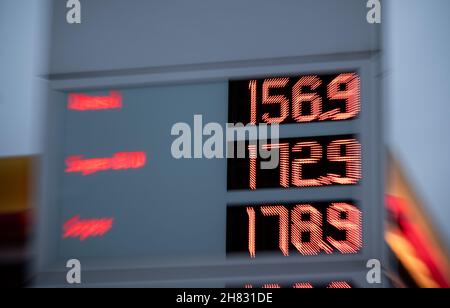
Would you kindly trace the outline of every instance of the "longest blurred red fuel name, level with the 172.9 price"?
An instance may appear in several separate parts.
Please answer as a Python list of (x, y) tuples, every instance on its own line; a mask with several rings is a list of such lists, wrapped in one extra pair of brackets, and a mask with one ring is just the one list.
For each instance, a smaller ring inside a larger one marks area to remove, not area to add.
[(81, 173), (83, 176), (107, 170), (139, 169), (145, 166), (144, 152), (120, 152), (112, 158), (90, 158), (70, 156), (66, 159), (66, 173)]

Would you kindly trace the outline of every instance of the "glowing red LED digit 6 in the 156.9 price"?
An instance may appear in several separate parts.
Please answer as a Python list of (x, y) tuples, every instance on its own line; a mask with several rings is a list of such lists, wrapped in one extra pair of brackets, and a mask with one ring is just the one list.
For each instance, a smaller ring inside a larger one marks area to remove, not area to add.
[[(310, 87), (316, 90), (322, 81), (318, 76), (305, 76), (292, 88), (292, 117), (299, 123), (311, 122), (317, 120), (322, 113), (322, 98), (316, 93), (302, 93), (303, 87)], [(311, 114), (303, 115), (302, 105), (305, 102), (311, 102)]]

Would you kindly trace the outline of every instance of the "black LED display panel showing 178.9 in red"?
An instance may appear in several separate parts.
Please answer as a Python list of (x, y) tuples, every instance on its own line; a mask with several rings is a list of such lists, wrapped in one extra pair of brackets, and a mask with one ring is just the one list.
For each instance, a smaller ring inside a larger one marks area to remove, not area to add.
[(356, 254), (363, 247), (355, 202), (229, 206), (227, 253), (250, 258)]

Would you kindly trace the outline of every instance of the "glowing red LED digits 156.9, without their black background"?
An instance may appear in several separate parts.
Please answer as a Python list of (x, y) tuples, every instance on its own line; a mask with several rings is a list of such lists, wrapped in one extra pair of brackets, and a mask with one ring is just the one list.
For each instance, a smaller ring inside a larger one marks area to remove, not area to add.
[[(258, 80), (250, 80), (248, 88), (251, 124), (257, 124), (260, 121), (267, 124), (343, 121), (357, 117), (361, 111), (361, 85), (356, 73), (339, 74), (331, 81), (328, 79), (326, 84), (318, 75), (300, 77), (292, 86), (292, 100), (284, 94), (271, 94), (271, 91), (276, 89), (282, 92), (290, 91), (289, 85), (294, 82), (292, 78), (271, 78), (260, 82), (262, 82), (261, 105), (279, 105), (279, 115), (274, 116), (265, 112), (261, 119), (258, 119)], [(322, 86), (325, 90), (319, 91)], [(324, 108), (324, 104), (335, 101), (345, 101), (343, 106), (345, 111), (341, 108), (331, 110), (329, 110), (330, 107)], [(305, 112), (307, 108), (309, 111)]]

